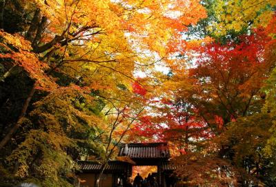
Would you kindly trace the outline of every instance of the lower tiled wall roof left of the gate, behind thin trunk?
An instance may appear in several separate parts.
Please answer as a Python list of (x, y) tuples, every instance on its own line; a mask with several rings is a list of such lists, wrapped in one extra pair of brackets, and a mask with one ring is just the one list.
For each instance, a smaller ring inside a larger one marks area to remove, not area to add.
[[(101, 170), (101, 163), (97, 161), (78, 161), (79, 169), (82, 171), (99, 171)], [(126, 170), (128, 164), (121, 161), (108, 161), (106, 171), (123, 172)]]

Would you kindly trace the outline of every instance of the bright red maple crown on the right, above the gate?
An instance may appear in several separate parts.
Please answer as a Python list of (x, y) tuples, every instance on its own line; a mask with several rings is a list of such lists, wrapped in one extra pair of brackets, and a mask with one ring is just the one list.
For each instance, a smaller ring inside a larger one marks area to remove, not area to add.
[[(275, 66), (264, 59), (270, 39), (260, 29), (241, 36), (239, 43), (210, 43), (199, 50), (197, 67), (190, 68), (200, 88), (195, 105), (210, 128), (217, 128), (215, 133), (237, 117), (260, 111), (264, 104), (260, 89)], [(222, 126), (213, 126), (215, 117), (221, 118)]]

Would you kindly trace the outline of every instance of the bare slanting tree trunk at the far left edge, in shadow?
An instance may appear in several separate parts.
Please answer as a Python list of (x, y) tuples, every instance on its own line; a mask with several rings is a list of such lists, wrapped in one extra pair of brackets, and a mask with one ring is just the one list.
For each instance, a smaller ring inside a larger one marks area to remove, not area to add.
[(8, 132), (8, 134), (1, 140), (0, 142), (0, 150), (6, 146), (6, 144), (8, 144), (8, 142), (10, 141), (10, 139), (12, 139), (12, 135), (14, 134), (14, 132), (17, 131), (17, 129), (19, 129), (20, 127), (20, 121), (23, 117), (25, 117), (26, 115), (26, 111), (27, 111), (27, 108), (30, 104), (30, 100), (32, 99), (32, 96), (34, 95), (34, 92), (35, 92), (35, 86), (36, 86), (36, 83), (34, 83), (34, 85), (32, 86), (32, 90), (30, 90), (30, 93), (23, 105), (23, 108), (21, 110), (21, 114), (19, 115), (19, 118), (16, 122), (16, 124), (14, 124), (14, 126), (12, 126), (12, 128), (10, 129), (10, 131)]

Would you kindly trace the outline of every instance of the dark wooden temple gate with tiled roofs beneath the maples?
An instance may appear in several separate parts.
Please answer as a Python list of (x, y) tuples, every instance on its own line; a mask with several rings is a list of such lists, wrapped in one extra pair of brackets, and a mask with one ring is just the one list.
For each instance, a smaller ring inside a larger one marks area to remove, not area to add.
[[(132, 166), (157, 166), (157, 183), (166, 187), (165, 175), (172, 173), (175, 166), (170, 164), (170, 150), (166, 142), (122, 144), (118, 157), (128, 157), (135, 162), (132, 165), (125, 161), (108, 161), (104, 170), (101, 187), (117, 187), (118, 181), (126, 186), (127, 177), (132, 176)], [(95, 187), (96, 179), (101, 172), (99, 161), (79, 161), (81, 187)]]

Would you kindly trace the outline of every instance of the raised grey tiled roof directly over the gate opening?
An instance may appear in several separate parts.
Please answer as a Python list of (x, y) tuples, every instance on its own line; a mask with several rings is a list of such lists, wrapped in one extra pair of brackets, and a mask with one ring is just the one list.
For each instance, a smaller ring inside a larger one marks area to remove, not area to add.
[(167, 143), (123, 144), (118, 156), (126, 156), (131, 159), (168, 159), (170, 150)]

